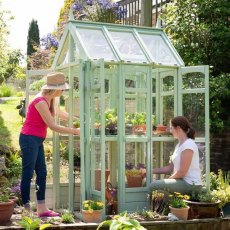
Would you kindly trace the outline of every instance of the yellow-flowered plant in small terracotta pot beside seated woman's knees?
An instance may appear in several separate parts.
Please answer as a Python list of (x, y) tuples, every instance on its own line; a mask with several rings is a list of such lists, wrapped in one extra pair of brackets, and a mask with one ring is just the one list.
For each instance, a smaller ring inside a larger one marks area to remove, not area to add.
[(189, 199), (188, 195), (182, 195), (178, 192), (174, 192), (169, 195), (169, 209), (170, 212), (175, 215), (179, 220), (188, 219), (189, 206), (186, 200)]

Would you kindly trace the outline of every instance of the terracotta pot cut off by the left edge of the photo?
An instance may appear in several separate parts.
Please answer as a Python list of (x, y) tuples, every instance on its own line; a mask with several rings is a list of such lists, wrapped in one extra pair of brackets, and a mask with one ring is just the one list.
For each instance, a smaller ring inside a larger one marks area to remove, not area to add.
[(10, 221), (10, 218), (14, 212), (14, 201), (0, 203), (0, 225)]

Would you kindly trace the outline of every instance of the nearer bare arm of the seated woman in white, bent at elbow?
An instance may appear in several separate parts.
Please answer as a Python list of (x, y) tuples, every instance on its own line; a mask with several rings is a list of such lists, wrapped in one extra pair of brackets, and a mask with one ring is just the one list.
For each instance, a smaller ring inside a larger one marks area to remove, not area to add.
[(176, 172), (174, 172), (169, 179), (181, 179), (183, 178), (186, 173), (188, 172), (188, 169), (191, 165), (193, 157), (193, 151), (191, 149), (185, 149), (181, 153), (181, 159), (180, 159), (180, 169)]

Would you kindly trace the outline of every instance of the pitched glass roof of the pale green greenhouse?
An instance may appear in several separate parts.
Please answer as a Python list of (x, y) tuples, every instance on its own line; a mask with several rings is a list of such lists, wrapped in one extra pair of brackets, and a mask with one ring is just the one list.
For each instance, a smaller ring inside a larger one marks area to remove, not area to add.
[(184, 66), (162, 29), (75, 20), (66, 26), (55, 58), (56, 66), (101, 58), (115, 63)]

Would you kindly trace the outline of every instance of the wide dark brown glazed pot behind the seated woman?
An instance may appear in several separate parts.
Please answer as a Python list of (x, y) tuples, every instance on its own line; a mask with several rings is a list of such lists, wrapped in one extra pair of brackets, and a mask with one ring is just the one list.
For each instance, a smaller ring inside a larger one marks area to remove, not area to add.
[(219, 202), (196, 202), (186, 200), (190, 207), (188, 219), (217, 218), (219, 216)]

